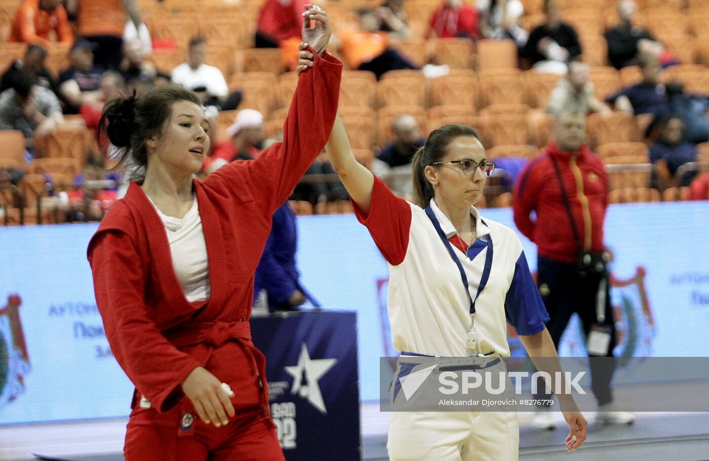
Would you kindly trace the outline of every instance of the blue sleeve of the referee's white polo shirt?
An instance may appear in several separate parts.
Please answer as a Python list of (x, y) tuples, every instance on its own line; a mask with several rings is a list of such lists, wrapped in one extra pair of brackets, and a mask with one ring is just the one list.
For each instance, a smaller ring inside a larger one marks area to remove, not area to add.
[(521, 336), (539, 333), (549, 321), (524, 251), (515, 263), (515, 275), (505, 297), (505, 315), (508, 324)]

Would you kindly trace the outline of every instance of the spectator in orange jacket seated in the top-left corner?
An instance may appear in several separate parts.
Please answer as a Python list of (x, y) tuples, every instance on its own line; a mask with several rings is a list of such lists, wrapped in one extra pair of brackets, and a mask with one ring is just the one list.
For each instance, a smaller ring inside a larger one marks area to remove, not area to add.
[(7, 41), (47, 46), (52, 30), (57, 35), (57, 40), (62, 43), (68, 44), (74, 40), (62, 1), (25, 0), (15, 11)]

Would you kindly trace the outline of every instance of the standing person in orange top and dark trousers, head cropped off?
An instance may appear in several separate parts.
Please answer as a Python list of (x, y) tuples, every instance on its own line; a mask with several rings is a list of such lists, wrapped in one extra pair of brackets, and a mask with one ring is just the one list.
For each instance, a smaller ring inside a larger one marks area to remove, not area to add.
[(96, 64), (118, 69), (123, 61), (126, 16), (140, 30), (140, 9), (135, 0), (67, 0), (69, 14), (77, 16), (79, 35), (98, 45)]

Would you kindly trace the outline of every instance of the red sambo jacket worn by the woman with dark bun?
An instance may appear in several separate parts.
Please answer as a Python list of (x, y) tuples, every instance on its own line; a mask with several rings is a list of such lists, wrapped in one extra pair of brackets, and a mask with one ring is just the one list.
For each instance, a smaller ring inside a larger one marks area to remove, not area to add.
[(184, 297), (162, 221), (136, 183), (89, 242), (96, 304), (111, 351), (137, 392), (160, 411), (183, 399), (180, 384), (198, 366), (230, 385), (237, 409), (267, 405), (264, 358), (249, 329), (254, 272), (273, 212), (330, 136), (341, 73), (337, 59), (316, 55), (298, 79), (284, 142), (256, 160), (235, 161), (204, 182), (194, 181), (208, 255), (208, 301)]

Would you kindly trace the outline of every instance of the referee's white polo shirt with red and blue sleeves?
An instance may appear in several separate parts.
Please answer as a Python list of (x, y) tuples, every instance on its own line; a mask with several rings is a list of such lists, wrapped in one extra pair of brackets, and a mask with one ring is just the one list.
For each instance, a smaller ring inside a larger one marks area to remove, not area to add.
[[(431, 200), (442, 231), (450, 239), (453, 224)], [(470, 326), (470, 302), (460, 272), (450, 257), (425, 210), (396, 197), (374, 179), (369, 215), (354, 205), (381, 254), (389, 263), (387, 308), (394, 348), (445, 357), (466, 355)], [(481, 218), (475, 207), (477, 240), (469, 249), (471, 259), (454, 246), (462, 263), (473, 299), (478, 291), (487, 240), (493, 241), (490, 277), (476, 300), (475, 324), (481, 351), (509, 357), (507, 324), (520, 335), (542, 331), (549, 315), (527, 266), (517, 234), (498, 222)]]

